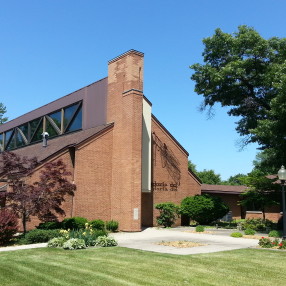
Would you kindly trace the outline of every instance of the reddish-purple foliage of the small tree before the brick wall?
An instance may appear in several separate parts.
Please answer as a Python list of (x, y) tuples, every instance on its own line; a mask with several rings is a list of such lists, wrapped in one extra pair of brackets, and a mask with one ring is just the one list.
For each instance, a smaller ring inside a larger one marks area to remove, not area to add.
[(54, 221), (57, 214), (64, 215), (61, 204), (65, 196), (73, 195), (76, 189), (67, 179), (71, 173), (66, 171), (62, 160), (45, 164), (39, 180), (31, 182), (37, 165), (36, 158), (28, 159), (13, 152), (4, 152), (0, 156), (0, 176), (9, 184), (6, 205), (21, 218), (24, 233), (31, 216)]

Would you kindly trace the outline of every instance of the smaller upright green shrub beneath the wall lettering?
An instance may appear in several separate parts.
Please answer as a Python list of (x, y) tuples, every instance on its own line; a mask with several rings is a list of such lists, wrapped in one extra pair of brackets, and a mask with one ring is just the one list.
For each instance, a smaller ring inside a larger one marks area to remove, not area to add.
[(177, 217), (179, 217), (179, 207), (174, 203), (161, 203), (155, 205), (155, 209), (159, 210), (160, 215), (156, 217), (158, 225), (171, 227)]

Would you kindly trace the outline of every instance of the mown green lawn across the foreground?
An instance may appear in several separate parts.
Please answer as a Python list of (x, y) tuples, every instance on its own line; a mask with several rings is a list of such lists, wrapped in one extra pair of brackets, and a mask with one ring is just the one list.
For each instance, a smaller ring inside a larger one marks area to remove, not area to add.
[(0, 285), (285, 285), (286, 252), (168, 255), (121, 247), (0, 252)]

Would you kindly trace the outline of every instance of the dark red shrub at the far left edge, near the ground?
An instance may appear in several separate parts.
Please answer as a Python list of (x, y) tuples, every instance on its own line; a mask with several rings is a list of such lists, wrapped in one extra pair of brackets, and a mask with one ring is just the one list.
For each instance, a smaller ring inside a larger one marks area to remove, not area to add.
[(18, 231), (18, 218), (8, 210), (0, 210), (0, 245), (8, 243)]

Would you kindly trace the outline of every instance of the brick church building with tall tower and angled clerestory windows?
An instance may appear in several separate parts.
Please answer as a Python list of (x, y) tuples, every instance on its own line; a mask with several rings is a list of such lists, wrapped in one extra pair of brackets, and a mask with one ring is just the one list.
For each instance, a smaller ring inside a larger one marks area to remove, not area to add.
[[(187, 151), (144, 96), (143, 60), (130, 50), (108, 62), (106, 78), (0, 126), (0, 152), (36, 156), (39, 168), (65, 162), (77, 186), (64, 203), (66, 217), (113, 219), (120, 230), (140, 231), (156, 225), (155, 204), (201, 193)], [(29, 228), (38, 223), (32, 219)]]

